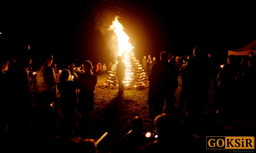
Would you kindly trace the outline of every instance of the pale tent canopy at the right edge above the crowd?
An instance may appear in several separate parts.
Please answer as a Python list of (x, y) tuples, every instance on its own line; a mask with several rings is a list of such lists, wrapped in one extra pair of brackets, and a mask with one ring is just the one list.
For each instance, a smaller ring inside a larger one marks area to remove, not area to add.
[(229, 55), (249, 55), (250, 51), (253, 51), (254, 54), (256, 54), (256, 40), (248, 44), (247, 46), (237, 49), (237, 50), (229, 50), (228, 51), (228, 56)]

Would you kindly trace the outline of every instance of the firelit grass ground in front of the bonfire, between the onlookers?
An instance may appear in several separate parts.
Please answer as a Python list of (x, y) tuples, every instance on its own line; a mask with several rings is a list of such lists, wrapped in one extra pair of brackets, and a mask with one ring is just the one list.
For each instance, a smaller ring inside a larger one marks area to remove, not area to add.
[[(107, 76), (97, 76), (97, 84), (107, 80)], [(213, 81), (213, 80), (212, 80)], [(179, 97), (181, 94), (181, 76), (178, 77), (179, 87), (175, 92), (176, 107), (179, 106)], [(129, 132), (132, 120), (135, 116), (141, 116), (145, 122), (144, 126), (153, 129), (153, 121), (149, 117), (149, 108), (147, 103), (148, 88), (137, 88), (133, 90), (124, 90), (123, 96), (118, 96), (117, 89), (98, 88), (94, 91), (95, 111), (92, 112), (93, 129), (96, 137), (100, 138), (105, 132), (108, 132), (110, 142), (120, 142), (121, 138)], [(213, 89), (210, 89), (208, 105), (213, 103)], [(211, 111), (205, 108), (205, 111)], [(186, 115), (184, 107), (183, 115)], [(76, 121), (79, 127), (79, 113)]]

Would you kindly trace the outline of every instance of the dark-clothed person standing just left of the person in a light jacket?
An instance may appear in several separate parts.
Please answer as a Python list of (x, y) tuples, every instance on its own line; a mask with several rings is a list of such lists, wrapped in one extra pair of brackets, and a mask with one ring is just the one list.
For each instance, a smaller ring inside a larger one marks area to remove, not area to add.
[[(33, 106), (33, 98), (30, 94), (32, 89), (28, 69), (32, 58), (28, 55), (21, 55), (16, 59), (16, 65), (10, 69), (8, 75), (9, 86), (15, 89), (15, 96), (10, 95), (9, 111), (9, 132), (11, 137), (22, 137), (23, 141), (17, 146), (19, 149), (28, 147), (29, 124)], [(11, 89), (10, 89), (11, 90)], [(13, 89), (12, 89), (13, 90)], [(12, 148), (15, 149), (15, 148)]]

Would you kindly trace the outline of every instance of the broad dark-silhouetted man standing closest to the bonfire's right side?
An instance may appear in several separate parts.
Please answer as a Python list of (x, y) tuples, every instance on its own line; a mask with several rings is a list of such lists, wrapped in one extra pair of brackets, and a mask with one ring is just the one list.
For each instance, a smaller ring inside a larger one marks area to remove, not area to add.
[(156, 100), (153, 102), (154, 115), (160, 115), (163, 112), (164, 99), (166, 105), (175, 107), (176, 99), (174, 92), (178, 87), (178, 76), (180, 71), (168, 62), (170, 54), (161, 52), (160, 61), (152, 66), (150, 73), (151, 85), (154, 90)]

